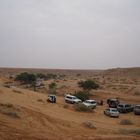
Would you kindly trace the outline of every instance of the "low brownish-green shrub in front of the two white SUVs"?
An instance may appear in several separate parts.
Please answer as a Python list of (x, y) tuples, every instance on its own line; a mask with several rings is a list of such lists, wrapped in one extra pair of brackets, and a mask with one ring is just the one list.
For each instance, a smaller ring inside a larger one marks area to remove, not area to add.
[(92, 112), (93, 110), (89, 107), (87, 107), (86, 105), (84, 105), (83, 103), (78, 103), (74, 105), (74, 108), (76, 111), (80, 111), (80, 112)]

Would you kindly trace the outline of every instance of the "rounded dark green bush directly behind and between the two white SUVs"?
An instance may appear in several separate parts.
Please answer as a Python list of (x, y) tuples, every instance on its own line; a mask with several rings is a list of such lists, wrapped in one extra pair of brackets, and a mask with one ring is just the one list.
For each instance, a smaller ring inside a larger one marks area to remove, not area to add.
[(81, 99), (82, 101), (88, 100), (89, 99), (89, 93), (86, 91), (78, 91), (75, 92), (74, 96), (77, 98)]

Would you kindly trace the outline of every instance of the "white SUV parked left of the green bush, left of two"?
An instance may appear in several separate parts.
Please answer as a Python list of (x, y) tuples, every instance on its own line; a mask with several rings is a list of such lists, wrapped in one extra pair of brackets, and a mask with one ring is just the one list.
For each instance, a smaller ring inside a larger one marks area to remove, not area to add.
[(78, 99), (76, 96), (67, 94), (65, 96), (65, 102), (74, 104), (74, 103), (80, 103), (82, 101)]

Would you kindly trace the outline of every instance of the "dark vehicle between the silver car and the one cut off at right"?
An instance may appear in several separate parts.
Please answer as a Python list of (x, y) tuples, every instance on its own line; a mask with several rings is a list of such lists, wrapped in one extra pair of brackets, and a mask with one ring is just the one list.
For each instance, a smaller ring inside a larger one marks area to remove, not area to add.
[(120, 113), (132, 112), (134, 107), (131, 104), (119, 104), (117, 107)]

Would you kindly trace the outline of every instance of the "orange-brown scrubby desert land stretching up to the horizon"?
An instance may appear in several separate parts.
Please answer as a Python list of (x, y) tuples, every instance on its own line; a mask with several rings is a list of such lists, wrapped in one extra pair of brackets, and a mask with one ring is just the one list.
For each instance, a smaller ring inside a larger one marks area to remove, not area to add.
[[(55, 74), (43, 80), (36, 91), (14, 78), (22, 73)], [(59, 75), (59, 76), (58, 76)], [(80, 90), (78, 82), (92, 79), (100, 88), (90, 98), (103, 100), (92, 112), (79, 112), (65, 103), (64, 95)], [(48, 85), (56, 83), (56, 103), (47, 102)], [(108, 70), (53, 70), (0, 68), (0, 140), (139, 140), (140, 116), (120, 113), (119, 118), (104, 115), (109, 98), (140, 104), (140, 68)], [(129, 120), (130, 124), (121, 124)]]

